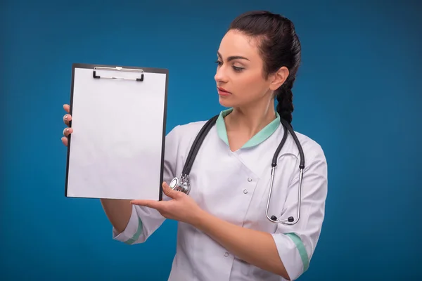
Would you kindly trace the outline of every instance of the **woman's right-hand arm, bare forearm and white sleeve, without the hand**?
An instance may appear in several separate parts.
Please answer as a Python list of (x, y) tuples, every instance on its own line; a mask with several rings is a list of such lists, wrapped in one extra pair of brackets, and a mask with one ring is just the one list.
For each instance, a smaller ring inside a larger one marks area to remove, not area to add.
[[(247, 263), (288, 280), (304, 273), (319, 240), (327, 195), (327, 163), (319, 146), (308, 150), (302, 179), (301, 216), (298, 223), (278, 223), (275, 233), (264, 233), (236, 226), (205, 211), (198, 211), (192, 225)], [(283, 217), (295, 216), (299, 177), (288, 187)], [(265, 218), (266, 219), (266, 218)]]

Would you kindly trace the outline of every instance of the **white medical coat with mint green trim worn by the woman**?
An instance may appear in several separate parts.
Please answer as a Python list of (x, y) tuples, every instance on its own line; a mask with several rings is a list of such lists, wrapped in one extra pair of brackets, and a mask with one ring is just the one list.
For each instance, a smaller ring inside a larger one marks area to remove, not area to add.
[[(265, 215), (271, 176), (271, 161), (283, 126), (277, 119), (257, 133), (243, 148), (231, 152), (221, 112), (208, 133), (192, 166), (191, 196), (200, 208), (237, 226), (271, 233), (279, 256), (291, 280), (307, 270), (319, 240), (327, 194), (327, 164), (320, 145), (297, 133), (305, 154), (300, 221), (294, 226), (272, 223)], [(198, 131), (205, 124), (193, 122), (176, 126), (165, 139), (164, 181), (180, 176)], [(288, 134), (278, 158), (269, 216), (296, 218), (300, 155)], [(163, 200), (168, 197), (163, 195)], [(127, 244), (142, 243), (165, 220), (155, 209), (132, 207), (127, 228), (113, 239)], [(253, 243), (253, 241), (251, 241)], [(212, 240), (205, 233), (179, 222), (177, 252), (169, 280), (284, 280), (281, 276), (252, 266)]]

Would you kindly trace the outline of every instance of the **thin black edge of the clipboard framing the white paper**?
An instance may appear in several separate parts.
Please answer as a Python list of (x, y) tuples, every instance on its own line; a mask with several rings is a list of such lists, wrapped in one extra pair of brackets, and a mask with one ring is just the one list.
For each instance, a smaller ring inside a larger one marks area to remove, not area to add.
[[(159, 73), (165, 75), (165, 97), (164, 97), (164, 115), (162, 120), (162, 148), (161, 148), (161, 165), (160, 165), (160, 183), (159, 183), (159, 194), (158, 201), (162, 201), (162, 182), (164, 181), (164, 159), (165, 159), (165, 131), (167, 129), (167, 91), (168, 91), (168, 81), (169, 81), (169, 70), (167, 68), (157, 68), (157, 67), (136, 67), (128, 65), (96, 65), (89, 63), (73, 63), (72, 64), (72, 77), (70, 81), (70, 110), (69, 114), (72, 115), (73, 107), (73, 90), (75, 83), (75, 70), (76, 68), (87, 68), (94, 71), (94, 67), (123, 67), (123, 68), (132, 68), (135, 70), (143, 70), (143, 73)], [(69, 126), (72, 126), (72, 120), (69, 122)], [(66, 157), (66, 175), (65, 175), (65, 197), (74, 198), (68, 196), (68, 180), (69, 180), (69, 159), (70, 159), (70, 143), (72, 139), (72, 134), (68, 136), (68, 152)], [(78, 197), (81, 198), (81, 197)], [(98, 199), (98, 198), (88, 198), (88, 199)], [(136, 199), (136, 198), (135, 198)]]

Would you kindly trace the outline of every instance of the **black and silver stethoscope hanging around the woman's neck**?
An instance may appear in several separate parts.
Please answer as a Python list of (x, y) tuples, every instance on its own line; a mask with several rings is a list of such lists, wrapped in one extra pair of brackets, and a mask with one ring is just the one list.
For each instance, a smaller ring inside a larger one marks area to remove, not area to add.
[[(189, 173), (191, 172), (191, 168), (193, 165), (193, 160), (195, 159), (196, 155), (198, 154), (198, 150), (200, 148), (200, 145), (203, 143), (205, 136), (207, 136), (207, 133), (210, 131), (212, 126), (214, 126), (215, 122), (217, 121), (219, 115), (216, 115), (215, 117), (212, 117), (209, 119), (205, 125), (200, 129), (198, 135), (196, 136), (195, 140), (193, 141), (193, 144), (191, 146), (191, 150), (188, 153), (188, 157), (186, 158), (186, 162), (184, 164), (183, 170), (181, 171), (180, 178), (173, 178), (170, 182), (170, 188), (173, 190), (181, 191), (186, 193), (186, 195), (189, 194), (191, 191), (191, 181), (189, 180)], [(272, 159), (271, 163), (271, 183), (269, 185), (269, 195), (268, 195), (268, 201), (267, 201), (267, 209), (265, 211), (265, 214), (269, 221), (273, 223), (283, 223), (286, 225), (294, 225), (295, 223), (298, 223), (300, 218), (300, 202), (301, 202), (301, 193), (302, 193), (302, 177), (303, 177), (303, 169), (305, 169), (305, 157), (303, 155), (302, 145), (300, 145), (300, 142), (298, 140), (298, 137), (296, 136), (295, 132), (293, 131), (292, 126), (286, 122), (286, 120), (281, 119), (281, 124), (284, 127), (284, 134), (283, 138), (281, 139), (281, 142), (279, 144), (279, 147), (276, 149), (276, 152), (274, 153), (274, 157)], [(299, 175), (299, 189), (298, 189), (298, 216), (293, 218), (293, 216), (289, 216), (288, 218), (278, 219), (276, 216), (268, 216), (268, 207), (269, 202), (271, 200), (271, 192), (274, 184), (274, 172), (277, 166), (277, 157), (279, 157), (279, 153), (281, 148), (283, 148), (284, 143), (286, 143), (287, 139), (287, 132), (290, 132), (290, 134), (293, 136), (293, 139), (298, 146), (299, 154), (300, 154), (300, 175)]]

